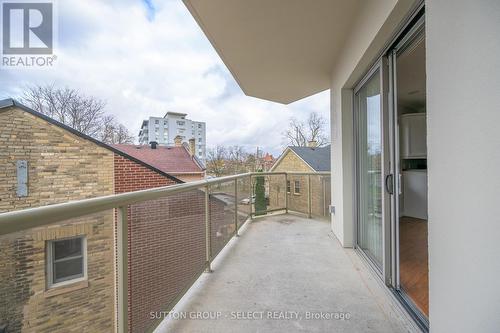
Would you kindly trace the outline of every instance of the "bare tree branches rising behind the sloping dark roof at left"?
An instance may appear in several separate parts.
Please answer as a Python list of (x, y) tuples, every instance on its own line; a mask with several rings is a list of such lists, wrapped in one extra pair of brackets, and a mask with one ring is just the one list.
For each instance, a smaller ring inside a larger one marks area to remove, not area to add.
[(128, 129), (106, 115), (106, 102), (76, 89), (52, 85), (27, 87), (22, 103), (55, 120), (106, 143), (133, 143)]

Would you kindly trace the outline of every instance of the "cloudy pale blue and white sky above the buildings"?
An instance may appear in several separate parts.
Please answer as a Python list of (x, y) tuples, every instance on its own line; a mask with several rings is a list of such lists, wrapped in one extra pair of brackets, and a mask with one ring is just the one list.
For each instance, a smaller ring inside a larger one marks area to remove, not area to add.
[[(323, 115), (329, 93), (282, 105), (245, 96), (181, 0), (57, 1), (57, 62), (0, 69), (0, 99), (55, 84), (106, 101), (134, 135), (167, 111), (207, 124), (207, 146), (259, 147), (275, 155), (290, 117)], [(328, 130), (329, 132), (329, 130)]]

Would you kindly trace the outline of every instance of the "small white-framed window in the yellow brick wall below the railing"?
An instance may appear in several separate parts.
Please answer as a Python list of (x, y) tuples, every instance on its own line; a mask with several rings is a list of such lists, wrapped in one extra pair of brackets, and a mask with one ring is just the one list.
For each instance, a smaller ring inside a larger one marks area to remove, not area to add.
[(87, 241), (84, 236), (47, 242), (48, 287), (58, 287), (87, 278)]

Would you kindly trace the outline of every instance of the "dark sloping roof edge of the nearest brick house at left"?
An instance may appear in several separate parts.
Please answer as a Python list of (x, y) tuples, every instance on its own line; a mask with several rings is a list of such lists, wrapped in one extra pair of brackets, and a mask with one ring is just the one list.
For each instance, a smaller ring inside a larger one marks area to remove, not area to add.
[(116, 153), (116, 154), (118, 154), (120, 156), (123, 156), (123, 157), (125, 157), (125, 158), (127, 158), (127, 159), (129, 159), (131, 161), (134, 161), (134, 162), (136, 162), (138, 164), (141, 164), (141, 165), (145, 166), (146, 168), (148, 168), (148, 169), (150, 169), (152, 171), (155, 171), (155, 172), (161, 174), (162, 176), (165, 176), (167, 178), (172, 179), (173, 181), (175, 181), (177, 183), (184, 183), (182, 180), (180, 180), (180, 179), (178, 179), (178, 178), (176, 178), (176, 177), (174, 177), (172, 175), (169, 175), (168, 173), (166, 173), (166, 172), (164, 172), (164, 171), (156, 168), (155, 166), (153, 166), (151, 164), (148, 164), (145, 161), (141, 161), (141, 160), (139, 160), (139, 159), (137, 159), (137, 158), (135, 158), (133, 156), (130, 156), (127, 153), (125, 153), (125, 152), (123, 152), (123, 151), (121, 151), (119, 149), (116, 149), (116, 148), (114, 148), (114, 147), (112, 147), (112, 146), (110, 146), (110, 145), (108, 145), (108, 144), (106, 144), (106, 143), (104, 143), (102, 141), (99, 141), (97, 139), (94, 139), (91, 136), (83, 134), (82, 132), (77, 131), (76, 129), (74, 129), (72, 127), (69, 127), (69, 126), (67, 126), (67, 125), (65, 125), (65, 124), (63, 124), (61, 122), (58, 122), (57, 120), (52, 119), (52, 118), (50, 118), (50, 117), (48, 117), (48, 116), (46, 116), (46, 115), (44, 115), (44, 114), (42, 114), (42, 113), (40, 113), (38, 111), (35, 111), (35, 110), (27, 107), (26, 105), (23, 105), (23, 104), (19, 103), (18, 101), (14, 100), (12, 98), (7, 98), (7, 99), (0, 100), (0, 109), (9, 108), (9, 107), (17, 107), (17, 108), (19, 108), (19, 109), (21, 109), (21, 110), (23, 110), (25, 112), (28, 112), (28, 113), (30, 113), (30, 114), (38, 117), (38, 118), (43, 119), (43, 120), (45, 120), (45, 121), (47, 121), (47, 122), (49, 122), (49, 123), (51, 123), (51, 124), (53, 124), (55, 126), (61, 127), (62, 129), (66, 130), (68, 132), (71, 132), (72, 134), (74, 134), (76, 136), (79, 136), (82, 139), (91, 141), (91, 142), (95, 143), (96, 145), (98, 145), (100, 147), (103, 147), (103, 148), (106, 148), (108, 150), (111, 150), (112, 152), (114, 152), (114, 153)]

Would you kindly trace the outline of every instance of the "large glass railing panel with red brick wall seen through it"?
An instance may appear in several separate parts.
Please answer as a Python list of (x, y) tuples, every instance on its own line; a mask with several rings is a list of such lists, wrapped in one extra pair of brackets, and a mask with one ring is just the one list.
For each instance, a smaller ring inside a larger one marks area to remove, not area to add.
[[(206, 268), (205, 192), (130, 205), (129, 329), (154, 327)], [(153, 317), (153, 318), (152, 318)]]

